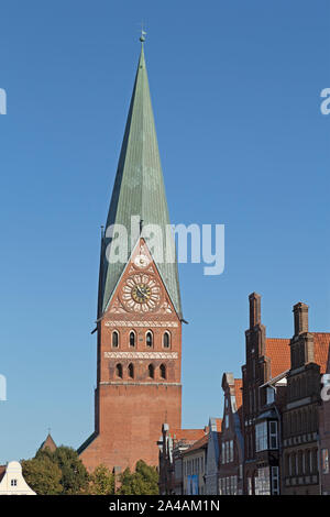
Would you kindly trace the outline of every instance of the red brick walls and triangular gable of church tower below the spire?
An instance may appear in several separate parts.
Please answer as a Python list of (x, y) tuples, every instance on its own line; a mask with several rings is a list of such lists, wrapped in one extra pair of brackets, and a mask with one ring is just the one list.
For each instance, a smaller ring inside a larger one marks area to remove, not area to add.
[[(136, 266), (135, 257), (141, 254), (148, 257), (147, 267)], [(125, 286), (134, 276), (145, 276), (158, 286), (155, 310), (136, 314), (124, 304)], [(98, 322), (96, 430), (79, 450), (88, 470), (103, 463), (120, 472), (133, 469), (140, 459), (157, 465), (162, 424), (180, 428), (180, 362), (182, 322), (141, 239)]]

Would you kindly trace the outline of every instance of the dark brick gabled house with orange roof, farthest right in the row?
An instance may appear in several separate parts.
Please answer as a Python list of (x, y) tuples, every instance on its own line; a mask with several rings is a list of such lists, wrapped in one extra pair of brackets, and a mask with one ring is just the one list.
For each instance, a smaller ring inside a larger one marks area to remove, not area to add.
[(294, 306), (294, 320), (287, 403), (283, 416), (282, 488), (287, 495), (317, 495), (320, 493), (321, 376), (327, 370), (330, 333), (309, 332), (306, 304)]

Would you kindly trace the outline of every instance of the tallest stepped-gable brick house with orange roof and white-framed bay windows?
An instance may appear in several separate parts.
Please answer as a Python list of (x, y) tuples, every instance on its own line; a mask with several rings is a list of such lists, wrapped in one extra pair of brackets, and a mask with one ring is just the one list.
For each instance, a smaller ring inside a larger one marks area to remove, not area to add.
[[(246, 361), (243, 377), (244, 428), (244, 493), (278, 493), (279, 425), (276, 402), (267, 399), (270, 389), (276, 389), (276, 378), (289, 370), (289, 340), (266, 338), (261, 322), (261, 296), (252, 293), (250, 328), (245, 332)], [(268, 413), (265, 409), (268, 404)], [(274, 404), (275, 403), (275, 404)], [(274, 441), (276, 440), (276, 441)]]

